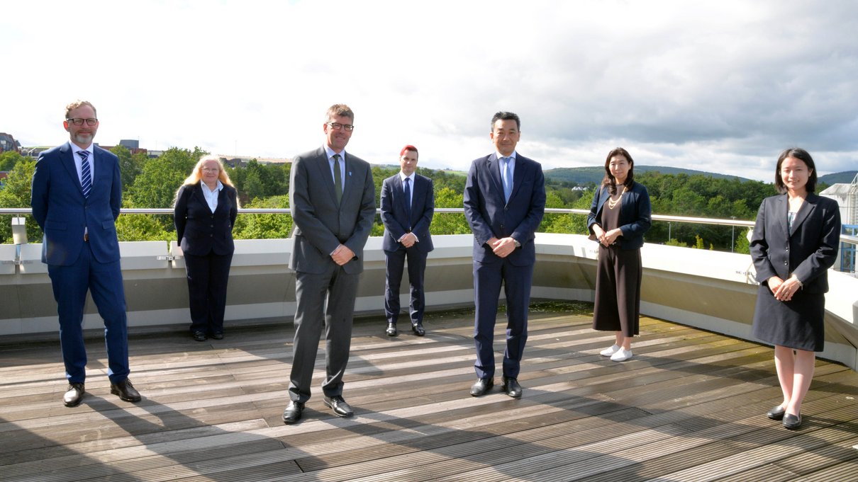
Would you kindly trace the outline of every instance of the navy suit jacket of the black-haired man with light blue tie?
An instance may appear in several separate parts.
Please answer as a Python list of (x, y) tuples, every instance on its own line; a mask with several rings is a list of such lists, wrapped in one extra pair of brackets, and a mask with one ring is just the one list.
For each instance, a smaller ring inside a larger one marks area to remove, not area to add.
[(512, 236), (521, 243), (507, 257), (512, 265), (533, 265), (536, 261), (534, 233), (545, 213), (545, 177), (542, 166), (516, 154), (510, 202), (504, 200), (497, 153), (475, 159), (465, 181), (465, 217), (474, 232), (474, 261), (498, 263), (502, 259), (486, 242), (492, 237)]

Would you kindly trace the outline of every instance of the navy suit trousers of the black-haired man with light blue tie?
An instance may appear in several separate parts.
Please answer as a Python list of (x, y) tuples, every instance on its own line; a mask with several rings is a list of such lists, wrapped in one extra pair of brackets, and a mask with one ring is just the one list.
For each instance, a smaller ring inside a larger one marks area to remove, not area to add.
[(530, 285), (534, 265), (516, 266), (509, 259), (483, 264), (474, 261), (474, 343), (477, 360), (474, 369), (478, 378), (494, 377), (494, 324), (498, 318), (498, 297), (501, 284), (506, 295), (506, 350), (504, 376), (518, 378), (528, 341), (528, 310)]

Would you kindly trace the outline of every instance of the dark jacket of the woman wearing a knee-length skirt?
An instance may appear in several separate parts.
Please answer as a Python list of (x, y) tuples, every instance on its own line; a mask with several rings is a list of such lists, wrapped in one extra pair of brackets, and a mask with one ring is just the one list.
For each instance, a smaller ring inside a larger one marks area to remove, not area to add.
[(828, 269), (837, 259), (840, 208), (837, 201), (808, 193), (787, 230), (787, 194), (763, 199), (751, 237), (751, 257), (757, 281), (770, 277), (801, 281), (810, 293), (828, 291)]

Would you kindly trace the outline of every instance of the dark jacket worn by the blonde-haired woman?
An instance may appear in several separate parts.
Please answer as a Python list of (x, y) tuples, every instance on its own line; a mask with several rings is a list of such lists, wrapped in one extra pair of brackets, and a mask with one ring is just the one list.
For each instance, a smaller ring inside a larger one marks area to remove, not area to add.
[(215, 212), (212, 212), (202, 188), (202, 181), (178, 188), (173, 207), (178, 243), (184, 253), (191, 255), (232, 254), (235, 251), (233, 226), (239, 213), (236, 190), (224, 185), (218, 193)]

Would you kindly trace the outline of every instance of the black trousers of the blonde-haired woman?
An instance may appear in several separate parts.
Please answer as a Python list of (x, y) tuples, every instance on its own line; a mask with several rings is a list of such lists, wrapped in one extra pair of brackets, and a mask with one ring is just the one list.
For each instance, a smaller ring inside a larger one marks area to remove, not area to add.
[(223, 315), (227, 310), (227, 282), (233, 254), (203, 256), (184, 254), (188, 275), (190, 330), (223, 333)]

